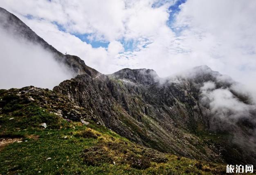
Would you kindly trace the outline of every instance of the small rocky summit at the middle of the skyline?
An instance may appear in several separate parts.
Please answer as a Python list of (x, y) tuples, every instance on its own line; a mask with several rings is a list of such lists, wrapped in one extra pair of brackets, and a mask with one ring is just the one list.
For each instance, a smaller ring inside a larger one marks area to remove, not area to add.
[(159, 81), (159, 77), (155, 70), (152, 69), (121, 69), (111, 75), (115, 79), (125, 79), (134, 83), (141, 83), (144, 85), (151, 85)]

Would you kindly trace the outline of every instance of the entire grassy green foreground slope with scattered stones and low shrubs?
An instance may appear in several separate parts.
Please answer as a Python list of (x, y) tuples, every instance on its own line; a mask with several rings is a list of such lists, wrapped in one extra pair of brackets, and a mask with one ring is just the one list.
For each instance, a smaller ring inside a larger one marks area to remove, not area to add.
[[(27, 97), (5, 93), (0, 91), (0, 139), (16, 141), (0, 149), (0, 175), (225, 172), (221, 164), (142, 147), (92, 121), (87, 126), (67, 122), (35, 101), (27, 101)], [(47, 128), (40, 127), (40, 123), (47, 123)]]

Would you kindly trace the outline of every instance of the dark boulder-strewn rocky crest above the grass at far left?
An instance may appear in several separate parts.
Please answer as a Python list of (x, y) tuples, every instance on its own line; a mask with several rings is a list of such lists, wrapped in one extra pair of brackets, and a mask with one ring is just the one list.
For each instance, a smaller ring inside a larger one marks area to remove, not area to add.
[[(54, 93), (48, 89), (35, 88), (34, 86), (24, 87), (21, 89), (1, 90), (8, 98), (7, 100), (0, 99), (0, 113), (4, 112), (4, 107), (9, 98), (15, 98), (16, 103), (28, 104), (30, 102), (36, 105), (48, 109), (50, 113), (56, 116), (63, 117), (65, 119), (80, 121), (84, 117), (89, 118), (92, 113), (85, 110), (83, 107), (79, 107), (77, 103), (70, 101), (69, 98), (58, 93)], [(31, 98), (33, 100), (31, 100)], [(11, 112), (11, 110), (7, 110)], [(43, 123), (42, 123), (43, 124)]]

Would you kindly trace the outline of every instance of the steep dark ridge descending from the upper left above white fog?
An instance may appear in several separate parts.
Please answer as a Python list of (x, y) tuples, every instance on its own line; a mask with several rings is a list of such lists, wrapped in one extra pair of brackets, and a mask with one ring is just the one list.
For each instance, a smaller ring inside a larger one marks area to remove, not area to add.
[(12, 13), (9, 13), (5, 9), (0, 7), (0, 27), (9, 33), (13, 33), (19, 39), (27, 39), (27, 41), (34, 44), (38, 44), (48, 50), (54, 55), (57, 61), (64, 63), (74, 75), (77, 74), (89, 74), (96, 76), (99, 72), (85, 65), (84, 61), (74, 55), (63, 55), (61, 52), (56, 50), (53, 46), (49, 45), (45, 40), (34, 31), (31, 30), (25, 23), (17, 18)]

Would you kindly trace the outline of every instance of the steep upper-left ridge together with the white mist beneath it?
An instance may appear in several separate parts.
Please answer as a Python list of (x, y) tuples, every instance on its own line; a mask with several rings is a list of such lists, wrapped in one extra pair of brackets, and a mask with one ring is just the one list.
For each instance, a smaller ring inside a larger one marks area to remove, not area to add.
[[(32, 31), (15, 15), (0, 7), (0, 88), (36, 85), (52, 89), (59, 82), (83, 74), (96, 74), (76, 56), (64, 55)], [(8, 42), (7, 42), (8, 41)], [(12, 80), (10, 82), (10, 80)]]

